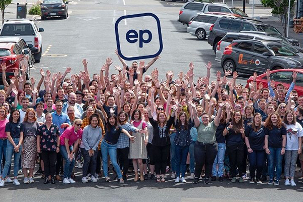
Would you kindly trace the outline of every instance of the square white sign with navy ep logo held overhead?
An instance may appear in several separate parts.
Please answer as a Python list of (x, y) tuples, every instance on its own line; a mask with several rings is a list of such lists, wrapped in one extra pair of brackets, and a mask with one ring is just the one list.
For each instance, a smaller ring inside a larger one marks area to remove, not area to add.
[[(124, 20), (126, 24), (126, 19), (127, 25), (120, 23)], [(155, 14), (122, 16), (116, 21), (115, 32), (118, 54), (124, 60), (155, 58), (162, 52), (161, 25)]]

